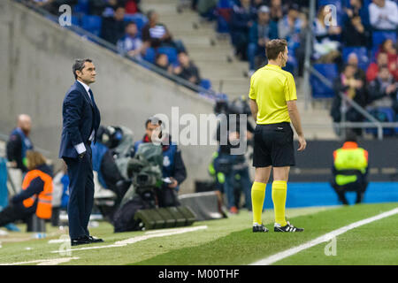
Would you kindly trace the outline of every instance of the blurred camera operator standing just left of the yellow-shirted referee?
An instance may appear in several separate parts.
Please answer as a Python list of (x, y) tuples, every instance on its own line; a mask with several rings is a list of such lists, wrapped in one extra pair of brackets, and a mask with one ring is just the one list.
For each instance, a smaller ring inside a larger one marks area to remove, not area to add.
[[(227, 208), (230, 213), (238, 213), (240, 193), (235, 195), (235, 185), (239, 184), (241, 191), (245, 195), (245, 207), (251, 210), (251, 181), (249, 177), (249, 166), (244, 153), (233, 154), (233, 149), (241, 146), (241, 142), (251, 141), (253, 137), (253, 126), (247, 120), (246, 132), (241, 133), (240, 116), (248, 115), (250, 113), (249, 104), (244, 98), (239, 98), (233, 103), (219, 102), (216, 104), (215, 111), (221, 114), (223, 119), (218, 123), (216, 139), (219, 142), (218, 157), (214, 160), (214, 167), (217, 172), (222, 172), (225, 175), (224, 193), (226, 194)], [(236, 120), (233, 121), (233, 116), (236, 114)], [(226, 125), (223, 125), (226, 123)], [(234, 126), (233, 126), (234, 124)], [(233, 126), (230, 128), (230, 126)], [(246, 139), (245, 139), (246, 138)], [(226, 141), (223, 144), (222, 141)]]

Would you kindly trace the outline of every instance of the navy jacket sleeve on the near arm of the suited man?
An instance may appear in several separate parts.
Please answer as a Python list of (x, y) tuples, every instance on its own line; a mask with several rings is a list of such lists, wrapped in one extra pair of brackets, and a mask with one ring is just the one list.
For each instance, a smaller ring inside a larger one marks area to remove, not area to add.
[(78, 91), (72, 91), (65, 97), (64, 102), (64, 127), (73, 146), (83, 142), (79, 131), (83, 96)]

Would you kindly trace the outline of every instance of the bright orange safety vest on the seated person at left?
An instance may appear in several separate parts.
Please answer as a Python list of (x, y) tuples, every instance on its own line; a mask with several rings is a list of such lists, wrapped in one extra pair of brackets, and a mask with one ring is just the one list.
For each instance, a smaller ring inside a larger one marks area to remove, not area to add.
[[(27, 189), (29, 187), (30, 182), (35, 178), (40, 177), (44, 182), (44, 187), (42, 192), (39, 194), (39, 200), (36, 208), (36, 216), (38, 218), (50, 219), (51, 211), (52, 211), (52, 178), (50, 175), (40, 171), (40, 170), (32, 170), (27, 172), (27, 175), (22, 182), (22, 189)], [(23, 201), (23, 204), (26, 208), (34, 205), (36, 201), (37, 195), (33, 195), (26, 200)]]

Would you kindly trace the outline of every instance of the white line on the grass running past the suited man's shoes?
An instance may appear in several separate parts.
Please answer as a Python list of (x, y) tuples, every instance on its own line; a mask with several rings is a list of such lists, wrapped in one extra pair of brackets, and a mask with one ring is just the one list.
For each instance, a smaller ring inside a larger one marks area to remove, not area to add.
[(157, 238), (157, 237), (165, 237), (165, 236), (171, 236), (179, 233), (188, 233), (188, 232), (193, 232), (197, 230), (203, 230), (207, 229), (207, 226), (196, 226), (196, 227), (189, 227), (189, 228), (177, 228), (177, 229), (167, 229), (167, 231), (162, 231), (159, 230), (153, 231), (152, 233), (148, 233), (143, 236), (137, 236), (134, 238), (129, 238), (123, 241), (116, 241), (114, 244), (107, 245), (107, 246), (93, 246), (93, 247), (83, 247), (83, 248), (78, 248), (78, 249), (66, 249), (66, 250), (53, 250), (51, 253), (59, 253), (59, 252), (68, 252), (68, 251), (76, 251), (76, 250), (84, 250), (84, 249), (106, 249), (106, 248), (119, 248), (119, 247), (124, 247), (128, 244), (134, 244), (137, 241), (145, 241), (150, 238)]

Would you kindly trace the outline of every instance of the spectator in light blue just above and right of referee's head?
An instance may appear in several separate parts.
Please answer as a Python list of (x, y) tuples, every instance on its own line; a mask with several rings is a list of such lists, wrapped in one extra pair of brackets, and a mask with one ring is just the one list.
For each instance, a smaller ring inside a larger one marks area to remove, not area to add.
[(279, 38), (287, 40), (287, 48), (295, 54), (295, 49), (299, 46), (300, 31), (302, 29), (302, 19), (300, 18), (299, 6), (291, 4), (287, 15), (278, 22)]

